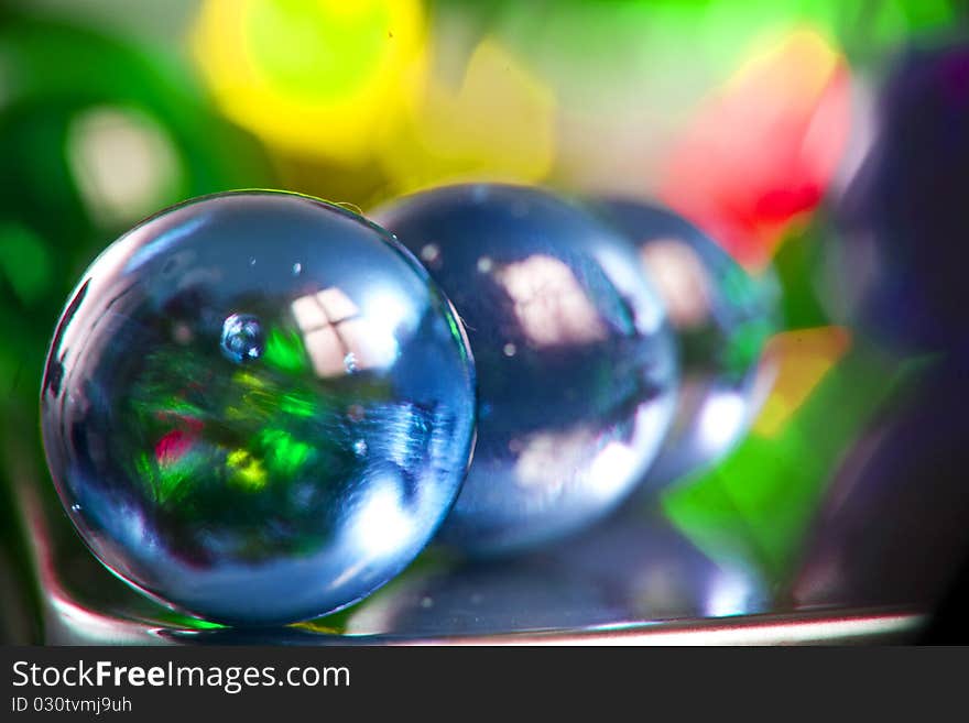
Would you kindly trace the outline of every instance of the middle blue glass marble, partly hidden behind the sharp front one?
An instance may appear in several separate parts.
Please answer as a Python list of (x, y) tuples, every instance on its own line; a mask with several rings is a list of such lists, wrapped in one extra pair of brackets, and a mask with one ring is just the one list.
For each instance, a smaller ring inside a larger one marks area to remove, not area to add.
[(467, 185), (375, 211), (465, 322), (478, 441), (440, 539), (520, 550), (601, 517), (642, 478), (668, 426), (676, 360), (632, 247), (545, 191)]

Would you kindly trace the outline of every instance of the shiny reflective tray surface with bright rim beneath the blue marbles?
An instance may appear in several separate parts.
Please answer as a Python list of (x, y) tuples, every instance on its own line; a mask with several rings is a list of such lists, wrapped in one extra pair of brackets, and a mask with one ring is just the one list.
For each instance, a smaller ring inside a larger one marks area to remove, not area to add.
[[(288, 626), (221, 627), (152, 604), (113, 579), (19, 479), (46, 644), (549, 645), (906, 642), (918, 609), (792, 606), (787, 587), (721, 567), (655, 507), (629, 505), (567, 544), (462, 565), (428, 548), (375, 594)], [(507, 571), (507, 574), (502, 571)]]

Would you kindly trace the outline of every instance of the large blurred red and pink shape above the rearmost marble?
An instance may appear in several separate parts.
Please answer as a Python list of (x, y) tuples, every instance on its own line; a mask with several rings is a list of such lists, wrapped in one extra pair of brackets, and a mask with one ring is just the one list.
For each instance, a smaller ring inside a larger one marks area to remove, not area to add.
[(824, 197), (845, 150), (849, 72), (799, 29), (751, 55), (673, 150), (661, 196), (747, 267)]

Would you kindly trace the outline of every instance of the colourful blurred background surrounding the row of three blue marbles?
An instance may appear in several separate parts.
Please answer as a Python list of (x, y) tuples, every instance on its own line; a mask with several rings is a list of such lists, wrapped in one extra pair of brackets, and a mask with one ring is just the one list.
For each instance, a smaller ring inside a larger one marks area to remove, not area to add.
[(776, 379), (721, 463), (555, 552), (431, 550), (301, 634), (928, 613), (969, 546), (967, 2), (8, 0), (0, 180), (0, 639), (211, 627), (65, 528), (36, 397), (97, 253), (230, 188), (639, 198), (781, 287)]

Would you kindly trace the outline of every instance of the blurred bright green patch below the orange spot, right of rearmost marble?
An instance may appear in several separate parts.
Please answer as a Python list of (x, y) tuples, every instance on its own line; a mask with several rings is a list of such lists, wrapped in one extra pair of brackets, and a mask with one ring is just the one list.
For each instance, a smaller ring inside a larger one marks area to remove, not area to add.
[(714, 560), (783, 588), (842, 456), (913, 369), (852, 350), (775, 437), (751, 435), (717, 468), (669, 490), (667, 516)]

